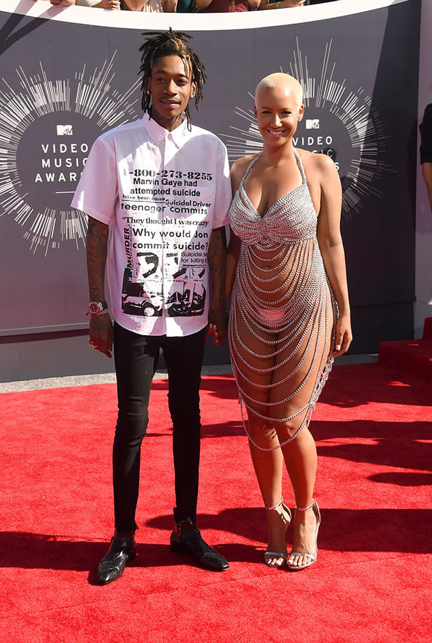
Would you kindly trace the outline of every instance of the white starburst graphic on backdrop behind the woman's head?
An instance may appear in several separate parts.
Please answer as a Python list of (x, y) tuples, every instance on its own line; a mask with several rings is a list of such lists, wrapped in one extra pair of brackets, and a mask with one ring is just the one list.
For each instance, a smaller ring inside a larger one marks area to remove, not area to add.
[[(379, 113), (372, 105), (370, 95), (361, 87), (356, 90), (348, 89), (346, 79), (336, 80), (336, 63), (331, 63), (331, 40), (325, 45), (321, 69), (316, 76), (309, 68), (307, 56), (302, 54), (298, 38), (296, 43), (292, 62), (287, 69), (280, 67), (280, 71), (286, 71), (297, 78), (303, 89), (305, 117), (301, 127), (305, 127), (307, 131), (302, 135), (299, 126), (293, 142), (298, 147), (307, 149), (304, 141), (317, 140), (311, 133), (315, 133), (315, 126), (320, 122), (328, 126), (328, 131), (332, 131), (333, 128), (339, 133), (339, 141), (336, 140), (337, 137), (328, 136), (328, 139), (334, 139), (335, 146), (341, 148), (344, 144), (343, 139), (346, 139), (348, 157), (342, 163), (344, 167), (337, 161), (335, 150), (329, 149), (330, 143), (317, 151), (328, 153), (336, 161), (344, 192), (342, 216), (349, 219), (361, 211), (364, 196), (382, 196), (379, 185), (383, 172), (394, 172), (383, 161), (389, 135), (384, 132)], [(252, 93), (248, 94), (253, 102)], [(221, 135), (226, 139), (230, 161), (259, 153), (263, 149), (263, 139), (256, 126), (252, 109), (245, 110), (237, 106), (235, 114), (245, 121), (245, 125), (230, 126), (238, 135)], [(312, 116), (309, 122), (308, 115)], [(319, 117), (314, 119), (314, 115)]]

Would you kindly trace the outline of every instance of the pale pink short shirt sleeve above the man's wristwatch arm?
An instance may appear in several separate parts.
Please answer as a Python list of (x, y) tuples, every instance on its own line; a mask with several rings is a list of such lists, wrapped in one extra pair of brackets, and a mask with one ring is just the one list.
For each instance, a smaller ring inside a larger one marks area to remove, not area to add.
[(110, 224), (117, 201), (117, 163), (112, 139), (93, 144), (71, 206), (102, 223)]

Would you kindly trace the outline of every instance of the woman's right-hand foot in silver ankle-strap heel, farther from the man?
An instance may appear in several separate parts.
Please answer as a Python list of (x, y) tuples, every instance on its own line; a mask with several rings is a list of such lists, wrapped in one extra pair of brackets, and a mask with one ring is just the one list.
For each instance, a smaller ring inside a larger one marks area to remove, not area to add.
[(297, 572), (315, 563), (320, 522), (320, 509), (316, 500), (312, 500), (308, 507), (296, 507), (293, 548), (287, 560), (291, 571)]

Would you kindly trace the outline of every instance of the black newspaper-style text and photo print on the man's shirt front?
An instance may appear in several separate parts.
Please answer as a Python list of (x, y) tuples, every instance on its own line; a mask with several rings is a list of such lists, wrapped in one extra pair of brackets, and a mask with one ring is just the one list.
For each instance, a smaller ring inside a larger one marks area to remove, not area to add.
[(123, 313), (161, 317), (165, 308), (167, 317), (203, 315), (211, 236), (206, 215), (215, 193), (212, 175), (149, 168), (130, 174), (127, 194), (122, 181), (120, 204), (128, 258)]

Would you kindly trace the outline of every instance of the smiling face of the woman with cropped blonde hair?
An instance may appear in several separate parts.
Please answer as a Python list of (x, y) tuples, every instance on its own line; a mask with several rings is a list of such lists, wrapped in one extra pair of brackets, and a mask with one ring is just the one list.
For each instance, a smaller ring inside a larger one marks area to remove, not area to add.
[(264, 142), (283, 144), (292, 139), (297, 124), (302, 120), (304, 105), (298, 105), (298, 96), (287, 85), (267, 87), (256, 95), (254, 113)]

